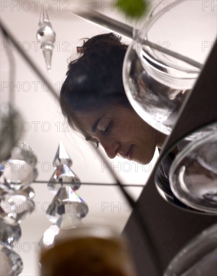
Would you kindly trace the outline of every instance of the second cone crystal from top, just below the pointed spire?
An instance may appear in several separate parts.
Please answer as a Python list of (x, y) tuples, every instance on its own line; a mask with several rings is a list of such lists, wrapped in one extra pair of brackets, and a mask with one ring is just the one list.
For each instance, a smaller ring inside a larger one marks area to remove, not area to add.
[(60, 170), (59, 168), (60, 167), (58, 167), (52, 175), (50, 183), (48, 183), (48, 189), (54, 191), (55, 193), (62, 186), (69, 186), (72, 188), (72, 190), (77, 190), (80, 187), (79, 178), (72, 172), (72, 170), (66, 164), (63, 164)]

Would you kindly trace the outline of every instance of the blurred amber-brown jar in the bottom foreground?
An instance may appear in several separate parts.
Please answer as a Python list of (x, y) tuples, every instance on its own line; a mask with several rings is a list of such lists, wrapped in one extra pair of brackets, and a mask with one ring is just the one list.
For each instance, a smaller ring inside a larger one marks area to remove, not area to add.
[(63, 229), (41, 253), (41, 275), (136, 275), (127, 241), (111, 229)]

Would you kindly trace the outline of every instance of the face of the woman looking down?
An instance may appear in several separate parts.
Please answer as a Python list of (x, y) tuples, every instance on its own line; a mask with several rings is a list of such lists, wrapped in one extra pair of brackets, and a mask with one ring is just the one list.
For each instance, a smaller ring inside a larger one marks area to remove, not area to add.
[[(157, 131), (134, 111), (122, 105), (76, 115), (89, 134), (86, 140), (99, 142), (111, 159), (117, 155), (148, 164), (155, 153)], [(78, 127), (79, 128), (79, 127)]]

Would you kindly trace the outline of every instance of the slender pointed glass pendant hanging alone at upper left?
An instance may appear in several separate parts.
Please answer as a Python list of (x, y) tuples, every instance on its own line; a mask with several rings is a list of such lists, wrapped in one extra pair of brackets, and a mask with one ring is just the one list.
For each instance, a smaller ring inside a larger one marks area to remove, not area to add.
[(37, 32), (37, 39), (39, 42), (41, 42), (41, 49), (43, 51), (47, 71), (48, 73), (51, 73), (51, 58), (56, 34), (52, 29), (48, 14), (45, 11), (41, 11), (39, 27), (40, 28)]

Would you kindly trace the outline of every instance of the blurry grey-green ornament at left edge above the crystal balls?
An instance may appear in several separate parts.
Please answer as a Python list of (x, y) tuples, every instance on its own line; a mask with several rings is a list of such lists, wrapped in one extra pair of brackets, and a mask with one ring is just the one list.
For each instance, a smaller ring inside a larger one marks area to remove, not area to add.
[(0, 161), (2, 162), (9, 158), (10, 151), (18, 141), (22, 131), (18, 131), (18, 128), (15, 127), (18, 121), (21, 121), (21, 117), (11, 105), (7, 103), (1, 105), (0, 117)]

